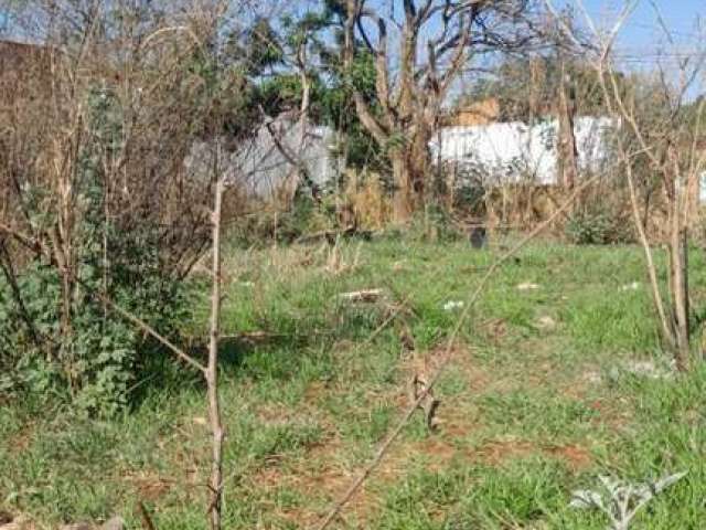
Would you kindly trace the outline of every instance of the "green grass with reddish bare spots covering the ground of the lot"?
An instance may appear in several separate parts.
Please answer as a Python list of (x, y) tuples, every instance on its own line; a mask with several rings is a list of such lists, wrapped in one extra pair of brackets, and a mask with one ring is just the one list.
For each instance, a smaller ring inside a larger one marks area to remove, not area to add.
[[(225, 528), (293, 529), (315, 522), (406, 406), (411, 365), (438, 362), (463, 300), (499, 254), (464, 243), (382, 240), (328, 250), (232, 251), (224, 271), (222, 351)], [(462, 326), (437, 389), (440, 428), (421, 414), (336, 528), (602, 529), (568, 507), (573, 489), (601, 474), (644, 480), (688, 470), (651, 502), (634, 528), (706, 522), (706, 369), (672, 379), (627, 373), (664, 361), (637, 247), (535, 243), (500, 269)], [(706, 267), (691, 259), (693, 298), (706, 303)], [(624, 288), (639, 282), (638, 289)], [(518, 290), (522, 283), (536, 289)], [(350, 305), (338, 294), (383, 288), (385, 303)], [(407, 309), (373, 340), (391, 306)], [(199, 305), (193, 332), (205, 326)], [(554, 326), (541, 326), (549, 317)], [(408, 352), (400, 336), (414, 339)], [(696, 341), (698, 342), (698, 341)], [(205, 528), (208, 469), (203, 385), (172, 360), (111, 421), (67, 407), (0, 409), (0, 509), (47, 527), (115, 513), (139, 522), (143, 500), (159, 528)]]

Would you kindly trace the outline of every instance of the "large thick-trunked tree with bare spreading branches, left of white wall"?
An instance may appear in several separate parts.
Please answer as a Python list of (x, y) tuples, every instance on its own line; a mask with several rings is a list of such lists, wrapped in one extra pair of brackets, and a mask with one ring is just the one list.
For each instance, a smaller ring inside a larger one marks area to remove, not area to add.
[(392, 161), (394, 215), (407, 221), (424, 202), (429, 141), (441, 106), (478, 54), (528, 44), (530, 0), (345, 1), (342, 56), (352, 68), (360, 47), (375, 57), (374, 112), (353, 91), (357, 115)]

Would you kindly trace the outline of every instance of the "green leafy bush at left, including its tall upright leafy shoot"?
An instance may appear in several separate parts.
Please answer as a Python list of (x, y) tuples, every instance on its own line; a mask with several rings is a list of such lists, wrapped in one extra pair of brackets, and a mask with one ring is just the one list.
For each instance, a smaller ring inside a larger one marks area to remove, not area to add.
[[(0, 275), (0, 393), (40, 402), (69, 400), (83, 411), (110, 414), (128, 404), (145, 356), (153, 351), (147, 336), (115, 314), (100, 296), (148, 322), (163, 335), (188, 317), (185, 284), (160, 253), (162, 234), (150, 219), (126, 230), (119, 216), (105, 214), (107, 176), (98, 151), (119, 137), (119, 116), (109, 96), (89, 98), (90, 132), (76, 171), (76, 263), (72, 275), (69, 321), (57, 266), (40, 252), (3, 263)], [(107, 147), (106, 147), (107, 146)], [(32, 222), (51, 230), (56, 223), (42, 210), (47, 190), (29, 190)], [(22, 255), (17, 253), (17, 255)], [(10, 266), (11, 265), (11, 266)]]

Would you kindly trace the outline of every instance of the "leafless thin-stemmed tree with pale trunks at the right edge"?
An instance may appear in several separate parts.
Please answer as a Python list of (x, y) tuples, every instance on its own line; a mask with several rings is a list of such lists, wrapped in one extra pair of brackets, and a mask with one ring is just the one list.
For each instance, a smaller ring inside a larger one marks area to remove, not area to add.
[[(556, 14), (552, 2), (545, 1), (549, 10)], [(703, 151), (706, 136), (702, 125), (704, 100), (689, 103), (688, 94), (703, 77), (706, 54), (694, 53), (692, 57), (677, 64), (676, 72), (671, 73), (657, 61), (655, 66), (660, 91), (656, 97), (649, 100), (650, 108), (641, 106), (634, 94), (631, 97), (621, 89), (612, 61), (616, 38), (637, 7), (638, 0), (624, 3), (622, 12), (608, 32), (601, 32), (597, 28), (580, 0), (576, 3), (593, 35), (593, 50), (598, 51), (593, 64), (599, 75), (607, 112), (623, 125), (623, 131), (616, 138), (617, 153), (625, 173), (634, 225), (645, 256), (661, 335), (665, 344), (674, 352), (676, 367), (686, 370), (691, 360), (688, 233), (698, 220), (698, 181), (706, 169), (706, 152)], [(673, 43), (670, 30), (663, 23), (659, 11), (655, 14), (662, 24), (667, 44)], [(563, 24), (563, 28), (569, 39), (581, 45), (566, 24)], [(648, 234), (649, 216), (640, 210), (640, 191), (637, 186), (639, 176), (635, 174), (634, 165), (634, 161), (640, 159), (645, 161), (643, 168), (662, 183), (666, 205), (663, 222), (668, 267), (666, 289), (660, 283), (654, 250)]]

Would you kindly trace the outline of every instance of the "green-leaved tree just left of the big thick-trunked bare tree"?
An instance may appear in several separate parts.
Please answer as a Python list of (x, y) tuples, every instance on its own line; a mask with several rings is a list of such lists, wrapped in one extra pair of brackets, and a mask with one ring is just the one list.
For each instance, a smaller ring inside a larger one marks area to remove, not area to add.
[[(314, 126), (332, 128), (335, 131), (332, 151), (339, 168), (386, 169), (379, 147), (357, 118), (352, 95), (355, 86), (376, 112), (374, 57), (362, 49), (356, 53), (354, 66), (346, 68), (340, 53), (344, 23), (345, 11), (336, 0), (287, 13), (276, 21), (257, 21), (247, 35), (246, 49), (265, 50), (267, 57), (271, 57), (267, 65), (272, 67), (260, 68), (257, 76), (252, 76), (256, 104), (271, 121), (290, 124), (289, 129), (282, 130), (290, 130), (291, 124), (297, 123), (300, 142), (317, 136)], [(271, 132), (277, 136), (275, 127)], [(291, 165), (290, 182), (295, 188), (315, 180), (301, 163), (302, 148), (288, 149), (284, 142), (280, 147)]]

